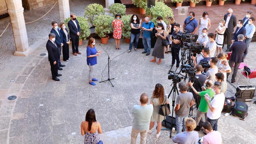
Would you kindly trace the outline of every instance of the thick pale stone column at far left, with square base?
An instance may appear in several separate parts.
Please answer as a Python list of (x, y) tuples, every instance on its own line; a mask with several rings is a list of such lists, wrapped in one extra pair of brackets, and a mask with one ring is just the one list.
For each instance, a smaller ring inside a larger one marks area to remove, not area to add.
[(10, 15), (13, 28), (13, 37), (16, 50), (15, 56), (27, 56), (29, 54), (29, 42), (24, 21), (24, 15), (21, 0), (6, 0), (8, 13)]

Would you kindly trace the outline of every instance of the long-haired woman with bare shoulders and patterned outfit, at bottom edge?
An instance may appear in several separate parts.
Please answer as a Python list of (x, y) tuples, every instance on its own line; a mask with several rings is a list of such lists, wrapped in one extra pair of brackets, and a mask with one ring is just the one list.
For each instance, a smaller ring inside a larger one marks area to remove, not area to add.
[(96, 121), (94, 109), (89, 109), (85, 121), (81, 123), (81, 135), (85, 135), (84, 144), (103, 144), (99, 134), (102, 134), (100, 123)]

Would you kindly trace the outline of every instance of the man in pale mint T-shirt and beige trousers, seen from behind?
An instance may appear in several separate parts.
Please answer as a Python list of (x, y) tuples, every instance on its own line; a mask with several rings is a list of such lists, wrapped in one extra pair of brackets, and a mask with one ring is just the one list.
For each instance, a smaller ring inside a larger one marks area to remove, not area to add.
[(151, 115), (153, 113), (153, 105), (148, 103), (148, 95), (143, 93), (140, 97), (140, 105), (134, 105), (131, 113), (134, 116), (131, 129), (131, 144), (136, 144), (138, 134), (141, 134), (141, 143), (146, 143), (147, 131), (149, 129)]

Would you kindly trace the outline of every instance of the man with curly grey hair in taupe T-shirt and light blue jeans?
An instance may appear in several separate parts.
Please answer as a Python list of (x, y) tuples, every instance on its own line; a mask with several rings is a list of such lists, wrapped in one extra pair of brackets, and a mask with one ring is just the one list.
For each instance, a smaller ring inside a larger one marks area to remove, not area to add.
[(179, 91), (181, 92), (176, 100), (175, 118), (177, 126), (177, 134), (181, 133), (182, 122), (183, 131), (186, 131), (185, 118), (189, 115), (189, 109), (194, 104), (193, 94), (188, 92), (189, 86), (184, 82), (179, 83)]

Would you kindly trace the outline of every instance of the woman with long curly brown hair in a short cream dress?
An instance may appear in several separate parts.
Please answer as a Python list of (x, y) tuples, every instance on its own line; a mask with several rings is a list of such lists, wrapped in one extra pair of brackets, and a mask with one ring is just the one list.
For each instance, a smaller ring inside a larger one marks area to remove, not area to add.
[(164, 95), (164, 88), (160, 83), (157, 83), (153, 95), (150, 99), (150, 104), (153, 105), (153, 113), (150, 120), (148, 134), (152, 134), (152, 128), (154, 123), (157, 122), (157, 135), (156, 138), (159, 138), (161, 134), (162, 121), (164, 116), (159, 114), (160, 106), (163, 104), (169, 104), (168, 98)]

